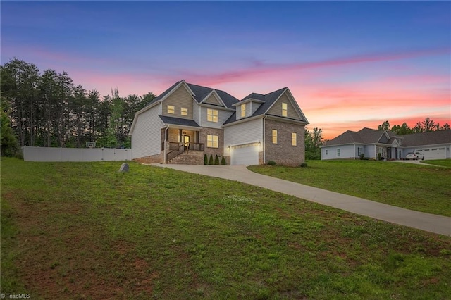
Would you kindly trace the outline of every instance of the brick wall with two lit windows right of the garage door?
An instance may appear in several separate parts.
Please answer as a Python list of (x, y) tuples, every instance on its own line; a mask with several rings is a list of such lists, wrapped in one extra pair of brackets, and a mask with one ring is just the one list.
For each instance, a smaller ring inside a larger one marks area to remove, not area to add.
[[(277, 130), (278, 143), (273, 144), (272, 130)], [(291, 133), (297, 133), (297, 146), (291, 144)], [(298, 166), (305, 161), (304, 125), (265, 120), (265, 162)], [(260, 159), (259, 159), (260, 160)]]

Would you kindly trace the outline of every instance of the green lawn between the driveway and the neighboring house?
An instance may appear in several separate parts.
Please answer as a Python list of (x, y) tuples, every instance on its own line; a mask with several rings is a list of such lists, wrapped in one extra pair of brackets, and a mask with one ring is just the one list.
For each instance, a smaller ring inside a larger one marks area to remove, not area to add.
[(257, 173), (414, 211), (451, 216), (451, 169), (388, 161), (309, 161), (307, 168), (254, 165)]

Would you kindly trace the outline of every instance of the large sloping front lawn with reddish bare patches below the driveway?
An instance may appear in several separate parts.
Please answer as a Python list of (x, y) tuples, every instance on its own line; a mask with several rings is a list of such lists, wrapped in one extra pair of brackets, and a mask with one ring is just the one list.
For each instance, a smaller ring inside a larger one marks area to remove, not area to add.
[(1, 292), (32, 299), (447, 299), (451, 238), (121, 163), (1, 160)]

